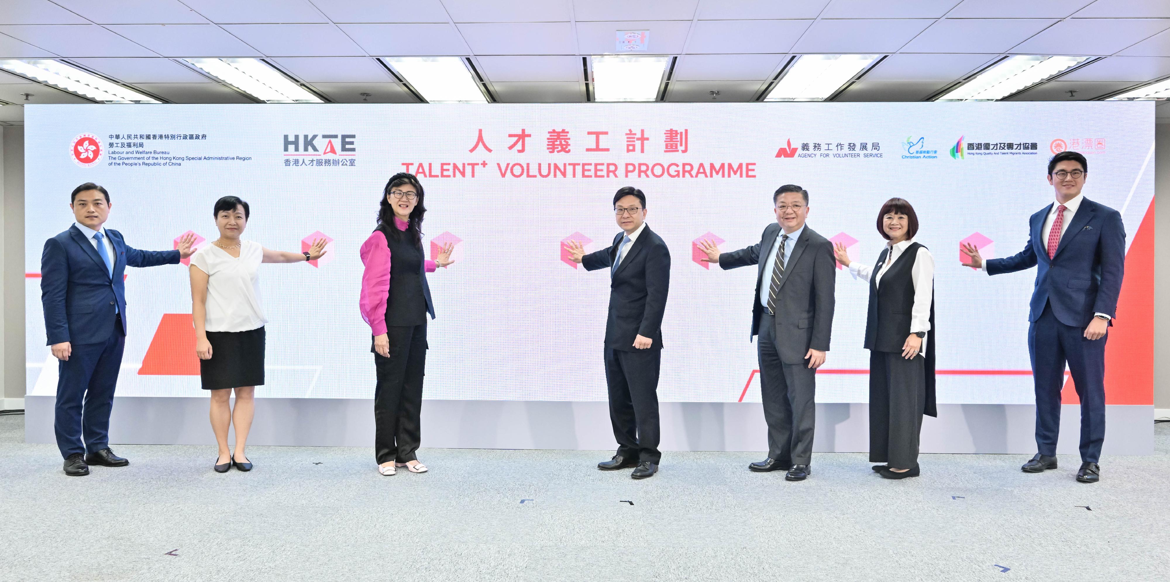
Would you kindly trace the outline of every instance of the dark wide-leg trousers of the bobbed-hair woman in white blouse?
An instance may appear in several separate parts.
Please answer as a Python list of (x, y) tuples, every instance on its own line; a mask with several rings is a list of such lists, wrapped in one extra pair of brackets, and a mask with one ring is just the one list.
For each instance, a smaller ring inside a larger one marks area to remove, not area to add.
[(869, 352), (869, 462), (894, 469), (918, 466), (925, 400), (925, 358)]

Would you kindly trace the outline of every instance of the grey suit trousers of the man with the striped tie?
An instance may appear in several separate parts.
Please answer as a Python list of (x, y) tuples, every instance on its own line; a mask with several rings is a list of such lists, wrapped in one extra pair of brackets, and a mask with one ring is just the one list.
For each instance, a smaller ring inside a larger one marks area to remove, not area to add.
[(777, 348), (776, 318), (764, 313), (756, 346), (759, 355), (759, 393), (768, 422), (768, 456), (794, 465), (812, 462), (817, 428), (817, 369), (808, 362), (784, 363)]

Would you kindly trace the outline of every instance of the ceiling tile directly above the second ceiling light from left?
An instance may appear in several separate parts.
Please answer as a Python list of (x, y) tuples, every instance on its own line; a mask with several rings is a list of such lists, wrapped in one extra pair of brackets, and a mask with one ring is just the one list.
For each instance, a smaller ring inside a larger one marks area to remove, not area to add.
[(215, 25), (112, 25), (109, 28), (163, 56), (263, 56)]

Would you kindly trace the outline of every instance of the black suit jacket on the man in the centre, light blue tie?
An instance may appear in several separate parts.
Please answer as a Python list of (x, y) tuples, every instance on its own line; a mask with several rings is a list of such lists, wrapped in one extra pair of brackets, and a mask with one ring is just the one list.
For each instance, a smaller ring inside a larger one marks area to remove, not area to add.
[[(613, 245), (581, 257), (585, 270), (608, 269), (618, 256), (625, 233), (613, 237)], [(626, 245), (626, 256), (610, 282), (610, 317), (605, 321), (605, 347), (636, 352), (634, 337), (662, 349), (662, 314), (670, 289), (670, 251), (647, 226), (638, 240)]]

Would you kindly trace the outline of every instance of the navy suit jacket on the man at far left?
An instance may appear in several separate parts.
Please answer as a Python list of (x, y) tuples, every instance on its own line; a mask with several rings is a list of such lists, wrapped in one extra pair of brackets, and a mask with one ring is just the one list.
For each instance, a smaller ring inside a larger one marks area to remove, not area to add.
[(126, 265), (154, 266), (179, 262), (178, 250), (138, 250), (128, 247), (117, 230), (105, 230), (113, 244), (113, 277), (85, 235), (69, 230), (44, 241), (41, 252), (41, 304), (46, 345), (99, 344), (115, 333), (113, 313), (126, 326)]

